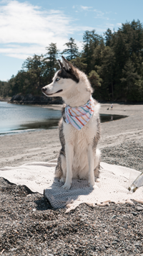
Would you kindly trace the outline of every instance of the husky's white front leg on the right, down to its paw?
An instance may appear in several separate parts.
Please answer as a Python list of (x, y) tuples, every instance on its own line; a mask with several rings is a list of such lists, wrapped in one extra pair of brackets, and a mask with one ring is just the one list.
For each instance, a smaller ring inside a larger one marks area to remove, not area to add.
[(89, 186), (93, 188), (95, 186), (94, 182), (94, 152), (92, 145), (89, 145), (87, 148), (87, 155), (89, 161)]

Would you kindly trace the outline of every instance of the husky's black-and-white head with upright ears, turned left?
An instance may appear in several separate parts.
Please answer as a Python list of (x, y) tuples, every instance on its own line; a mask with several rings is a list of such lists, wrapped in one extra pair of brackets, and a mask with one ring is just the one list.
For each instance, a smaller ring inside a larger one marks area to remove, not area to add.
[(59, 61), (60, 70), (58, 70), (53, 78), (52, 83), (41, 88), (41, 91), (48, 97), (64, 96), (73, 86), (79, 83), (77, 68), (69, 63), (63, 56), (62, 63)]

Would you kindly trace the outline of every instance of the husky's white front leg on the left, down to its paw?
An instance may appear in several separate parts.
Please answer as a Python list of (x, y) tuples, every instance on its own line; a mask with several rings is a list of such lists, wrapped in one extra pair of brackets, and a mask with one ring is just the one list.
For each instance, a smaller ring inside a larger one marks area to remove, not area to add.
[(72, 183), (72, 160), (74, 155), (74, 147), (71, 143), (66, 144), (66, 182), (62, 188), (69, 189), (71, 188)]

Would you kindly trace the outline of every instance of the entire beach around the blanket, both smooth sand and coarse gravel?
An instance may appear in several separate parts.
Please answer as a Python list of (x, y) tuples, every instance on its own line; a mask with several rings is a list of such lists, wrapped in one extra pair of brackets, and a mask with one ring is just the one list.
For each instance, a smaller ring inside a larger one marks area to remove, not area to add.
[[(143, 105), (114, 104), (111, 109), (101, 104), (100, 113), (127, 116), (102, 123), (102, 162), (143, 170)], [(48, 161), (58, 155), (59, 132), (1, 136), (0, 145), (0, 167)], [(65, 209), (51, 209), (40, 193), (4, 178), (0, 195), (2, 256), (143, 255), (142, 204), (81, 204), (65, 214)]]

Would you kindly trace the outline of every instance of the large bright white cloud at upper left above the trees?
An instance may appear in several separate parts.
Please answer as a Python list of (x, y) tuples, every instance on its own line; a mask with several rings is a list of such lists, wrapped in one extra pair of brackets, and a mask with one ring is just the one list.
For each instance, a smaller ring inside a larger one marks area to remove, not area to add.
[(0, 2), (0, 52), (15, 58), (44, 53), (51, 42), (59, 50), (77, 31), (92, 29), (76, 27), (74, 20), (59, 10), (41, 10), (28, 2)]

